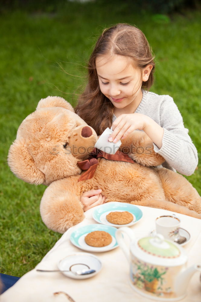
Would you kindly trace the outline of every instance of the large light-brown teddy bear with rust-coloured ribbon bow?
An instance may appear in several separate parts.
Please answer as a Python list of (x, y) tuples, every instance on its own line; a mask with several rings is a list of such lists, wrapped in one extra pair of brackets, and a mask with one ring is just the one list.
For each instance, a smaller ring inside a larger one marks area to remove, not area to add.
[(164, 158), (154, 152), (143, 131), (136, 130), (122, 140), (115, 159), (94, 152), (96, 141), (94, 129), (61, 97), (41, 99), (36, 111), (18, 128), (8, 165), (25, 182), (48, 186), (40, 214), (49, 229), (64, 233), (81, 222), (85, 216), (80, 196), (98, 188), (105, 202), (120, 201), (201, 218), (198, 192), (182, 175), (160, 167)]

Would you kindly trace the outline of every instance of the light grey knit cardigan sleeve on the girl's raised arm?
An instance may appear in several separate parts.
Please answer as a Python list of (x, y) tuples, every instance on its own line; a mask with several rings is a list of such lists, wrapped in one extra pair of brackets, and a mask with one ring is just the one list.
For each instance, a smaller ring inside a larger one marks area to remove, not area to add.
[(198, 155), (188, 129), (183, 125), (183, 118), (173, 98), (165, 95), (160, 106), (160, 126), (164, 128), (162, 147), (154, 144), (154, 150), (168, 164), (183, 175), (191, 175), (198, 164)]

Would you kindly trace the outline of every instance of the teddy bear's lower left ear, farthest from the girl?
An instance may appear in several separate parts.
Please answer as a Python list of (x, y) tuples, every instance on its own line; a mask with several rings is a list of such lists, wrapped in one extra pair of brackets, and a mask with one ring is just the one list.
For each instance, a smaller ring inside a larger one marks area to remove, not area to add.
[(45, 183), (45, 175), (37, 169), (23, 139), (15, 140), (8, 152), (8, 165), (20, 179), (30, 184)]

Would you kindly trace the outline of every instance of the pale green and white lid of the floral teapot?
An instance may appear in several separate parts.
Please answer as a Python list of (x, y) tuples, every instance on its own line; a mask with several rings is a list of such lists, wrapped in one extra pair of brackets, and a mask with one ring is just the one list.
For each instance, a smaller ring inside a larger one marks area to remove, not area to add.
[(138, 241), (138, 246), (149, 255), (161, 258), (177, 258), (180, 256), (178, 247), (169, 240), (164, 240), (161, 234), (156, 234), (154, 237), (141, 238)]

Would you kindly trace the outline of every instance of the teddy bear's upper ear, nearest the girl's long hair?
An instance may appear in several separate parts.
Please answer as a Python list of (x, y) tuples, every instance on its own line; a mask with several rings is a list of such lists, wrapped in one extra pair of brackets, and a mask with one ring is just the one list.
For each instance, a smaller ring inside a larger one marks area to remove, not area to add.
[(59, 96), (48, 96), (47, 98), (42, 98), (39, 101), (36, 110), (45, 107), (62, 107), (75, 112), (71, 104), (69, 104), (67, 101), (65, 101), (64, 98), (61, 98)]

